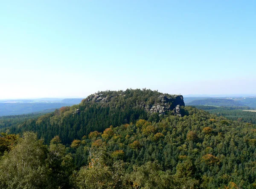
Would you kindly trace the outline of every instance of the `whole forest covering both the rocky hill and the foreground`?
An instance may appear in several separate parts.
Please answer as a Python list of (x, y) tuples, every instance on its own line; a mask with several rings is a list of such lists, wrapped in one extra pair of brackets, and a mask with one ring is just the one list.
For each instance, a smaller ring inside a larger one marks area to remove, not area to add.
[(7, 127), (0, 188), (256, 188), (256, 125), (195, 107), (178, 114), (177, 99), (103, 91)]

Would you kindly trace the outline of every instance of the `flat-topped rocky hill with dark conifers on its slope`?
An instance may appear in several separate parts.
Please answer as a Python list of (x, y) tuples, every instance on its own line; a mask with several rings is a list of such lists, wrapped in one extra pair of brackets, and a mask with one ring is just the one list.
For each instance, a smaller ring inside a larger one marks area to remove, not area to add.
[(102, 91), (71, 107), (61, 107), (36, 119), (28, 119), (11, 133), (35, 131), (47, 143), (58, 135), (64, 144), (81, 139), (91, 131), (135, 122), (139, 118), (159, 121), (164, 115), (184, 115), (183, 96), (153, 90)]

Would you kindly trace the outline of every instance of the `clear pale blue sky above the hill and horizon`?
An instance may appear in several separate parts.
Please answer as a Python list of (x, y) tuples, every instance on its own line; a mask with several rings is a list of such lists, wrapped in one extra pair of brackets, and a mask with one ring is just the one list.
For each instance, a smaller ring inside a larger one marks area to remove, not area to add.
[(0, 99), (256, 93), (255, 0), (0, 0)]

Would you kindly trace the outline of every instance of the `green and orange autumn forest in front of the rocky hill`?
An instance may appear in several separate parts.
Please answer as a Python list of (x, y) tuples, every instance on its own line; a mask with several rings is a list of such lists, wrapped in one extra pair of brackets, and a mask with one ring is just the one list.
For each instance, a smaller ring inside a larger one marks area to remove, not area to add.
[(185, 107), (64, 146), (35, 133), (2, 134), (0, 188), (238, 189), (256, 187), (256, 126)]

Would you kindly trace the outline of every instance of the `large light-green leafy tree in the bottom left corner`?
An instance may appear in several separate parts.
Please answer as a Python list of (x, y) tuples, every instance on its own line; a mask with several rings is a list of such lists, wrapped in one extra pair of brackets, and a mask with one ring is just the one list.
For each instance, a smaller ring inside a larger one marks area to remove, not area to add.
[(47, 149), (35, 133), (26, 132), (19, 144), (0, 160), (0, 188), (52, 188), (45, 164)]

